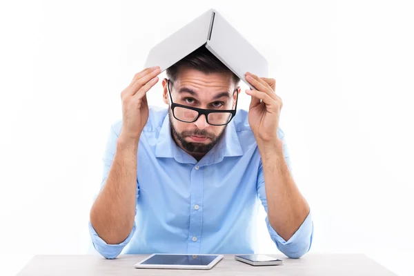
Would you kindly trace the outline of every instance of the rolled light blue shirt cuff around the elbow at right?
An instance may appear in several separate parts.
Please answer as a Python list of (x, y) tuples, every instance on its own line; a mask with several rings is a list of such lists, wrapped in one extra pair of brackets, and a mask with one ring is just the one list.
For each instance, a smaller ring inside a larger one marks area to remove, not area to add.
[(306, 217), (299, 229), (297, 229), (295, 234), (287, 242), (270, 226), (267, 217), (266, 222), (270, 237), (284, 255), (297, 259), (311, 249), (313, 239), (313, 219), (311, 212), (309, 212), (308, 217)]

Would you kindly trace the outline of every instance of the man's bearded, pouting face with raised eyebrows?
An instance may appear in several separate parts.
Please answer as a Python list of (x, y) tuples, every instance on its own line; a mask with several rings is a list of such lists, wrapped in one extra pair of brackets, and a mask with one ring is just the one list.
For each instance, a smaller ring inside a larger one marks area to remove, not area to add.
[[(164, 102), (169, 104), (167, 81), (164, 79)], [(204, 74), (195, 69), (180, 68), (178, 79), (170, 81), (172, 101), (184, 106), (208, 110), (232, 110), (237, 93), (230, 73)], [(233, 93), (234, 92), (234, 93)], [(226, 126), (212, 126), (201, 115), (193, 123), (175, 119), (170, 112), (171, 132), (178, 146), (195, 157), (202, 157), (219, 141)]]

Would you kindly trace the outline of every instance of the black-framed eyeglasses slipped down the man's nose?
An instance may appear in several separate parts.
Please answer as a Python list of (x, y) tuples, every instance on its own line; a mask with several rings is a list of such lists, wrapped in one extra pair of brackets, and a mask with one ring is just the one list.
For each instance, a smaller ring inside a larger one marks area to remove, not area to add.
[[(172, 82), (172, 81), (171, 81)], [(167, 80), (168, 94), (170, 94), (171, 99), (171, 110), (172, 115), (175, 119), (179, 121), (184, 121), (185, 123), (193, 123), (199, 119), (201, 115), (206, 116), (207, 124), (212, 126), (224, 126), (230, 123), (231, 119), (235, 117), (237, 110), (237, 99), (239, 98), (239, 93), (236, 97), (236, 105), (234, 110), (209, 110), (203, 108), (193, 108), (191, 106), (184, 106), (179, 103), (174, 103), (172, 101), (172, 96), (170, 92), (170, 80)], [(235, 92), (237, 89), (235, 90)], [(233, 92), (234, 95), (234, 92)]]

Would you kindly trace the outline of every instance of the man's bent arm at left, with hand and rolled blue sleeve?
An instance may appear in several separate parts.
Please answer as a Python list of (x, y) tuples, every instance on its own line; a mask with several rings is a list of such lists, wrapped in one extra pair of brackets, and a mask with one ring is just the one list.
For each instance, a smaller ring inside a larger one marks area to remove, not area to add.
[(159, 67), (142, 70), (121, 92), (121, 130), (112, 129), (106, 146), (106, 181), (90, 210), (89, 229), (95, 249), (108, 259), (121, 253), (135, 231), (138, 142), (149, 115), (146, 92), (157, 83), (159, 72)]

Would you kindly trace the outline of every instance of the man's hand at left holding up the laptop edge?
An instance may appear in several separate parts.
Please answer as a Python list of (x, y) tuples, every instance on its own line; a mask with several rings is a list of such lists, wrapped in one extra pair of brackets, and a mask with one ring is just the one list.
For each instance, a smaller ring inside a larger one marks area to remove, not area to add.
[(122, 139), (139, 140), (149, 115), (146, 92), (158, 82), (160, 72), (159, 66), (142, 70), (121, 92), (122, 128), (119, 137)]

